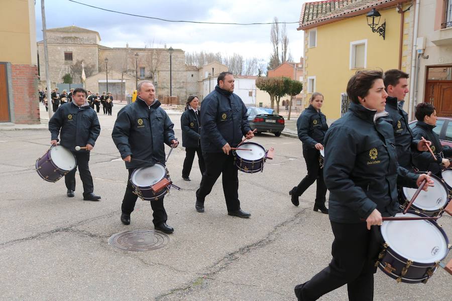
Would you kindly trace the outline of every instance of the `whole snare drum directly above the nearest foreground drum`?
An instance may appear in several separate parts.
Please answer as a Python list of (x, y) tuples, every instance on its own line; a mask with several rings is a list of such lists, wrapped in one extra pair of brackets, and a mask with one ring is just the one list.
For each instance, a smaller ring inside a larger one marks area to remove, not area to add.
[[(410, 208), (418, 210), (427, 216), (439, 215), (449, 202), (448, 190), (445, 184), (438, 177), (431, 175), (430, 179), (434, 182), (434, 187), (429, 187), (428, 191), (419, 193)], [(403, 187), (401, 189), (400, 205), (405, 208), (410, 202), (417, 189)]]

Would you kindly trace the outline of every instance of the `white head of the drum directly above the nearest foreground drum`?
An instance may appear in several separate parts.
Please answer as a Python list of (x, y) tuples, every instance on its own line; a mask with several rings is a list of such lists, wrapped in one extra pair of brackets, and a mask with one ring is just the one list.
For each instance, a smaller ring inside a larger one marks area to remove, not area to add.
[[(422, 210), (435, 211), (447, 204), (447, 188), (437, 177), (431, 175), (430, 179), (433, 180), (435, 186), (429, 187), (428, 191), (421, 190), (413, 205)], [(414, 188), (403, 188), (407, 200), (411, 200), (416, 190)]]

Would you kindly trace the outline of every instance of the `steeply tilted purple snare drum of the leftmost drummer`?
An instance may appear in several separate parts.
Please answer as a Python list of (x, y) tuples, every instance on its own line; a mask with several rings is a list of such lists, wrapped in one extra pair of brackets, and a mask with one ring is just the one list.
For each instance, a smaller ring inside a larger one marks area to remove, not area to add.
[(36, 172), (47, 182), (56, 182), (77, 166), (75, 156), (64, 146), (51, 146), (36, 160)]

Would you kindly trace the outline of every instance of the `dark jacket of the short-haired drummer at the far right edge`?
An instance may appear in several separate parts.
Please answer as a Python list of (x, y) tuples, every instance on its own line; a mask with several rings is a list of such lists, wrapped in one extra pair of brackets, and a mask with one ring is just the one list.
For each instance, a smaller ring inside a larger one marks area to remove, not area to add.
[(431, 151), (435, 155), (437, 161), (433, 159), (430, 152), (414, 153), (414, 166), (422, 172), (431, 171), (432, 174), (438, 175), (441, 172), (441, 161), (444, 157), (452, 157), (452, 148), (445, 145), (442, 146), (439, 136), (433, 131), (435, 125), (427, 124), (423, 121), (417, 121), (413, 128), (414, 137), (421, 139), (424, 137), (431, 141)]

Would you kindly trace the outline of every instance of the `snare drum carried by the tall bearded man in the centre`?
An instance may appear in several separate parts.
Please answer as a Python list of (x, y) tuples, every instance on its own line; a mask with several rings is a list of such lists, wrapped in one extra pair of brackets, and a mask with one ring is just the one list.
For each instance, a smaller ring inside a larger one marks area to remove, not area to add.
[(254, 142), (245, 142), (240, 148), (251, 150), (234, 150), (234, 161), (239, 170), (250, 174), (262, 172), (266, 159), (265, 148)]

